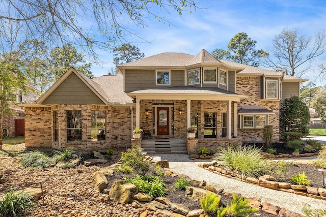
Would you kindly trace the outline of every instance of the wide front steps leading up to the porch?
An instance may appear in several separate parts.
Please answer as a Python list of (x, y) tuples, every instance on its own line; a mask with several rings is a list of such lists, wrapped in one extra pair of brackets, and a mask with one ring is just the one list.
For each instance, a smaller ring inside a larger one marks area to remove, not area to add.
[(148, 154), (187, 153), (187, 145), (185, 141), (179, 138), (156, 138), (151, 140), (143, 139), (141, 146)]

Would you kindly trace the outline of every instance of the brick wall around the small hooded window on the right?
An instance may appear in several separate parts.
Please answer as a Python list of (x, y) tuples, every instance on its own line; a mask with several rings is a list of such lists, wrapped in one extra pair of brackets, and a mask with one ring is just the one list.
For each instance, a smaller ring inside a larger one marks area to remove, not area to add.
[[(260, 78), (258, 77), (237, 77), (237, 94), (248, 96), (247, 100), (238, 103), (240, 106), (263, 106), (275, 114), (268, 115), (268, 125), (273, 126), (274, 134), (272, 142), (280, 141), (280, 101), (260, 100)], [(247, 142), (263, 142), (262, 129), (238, 129), (238, 136)]]

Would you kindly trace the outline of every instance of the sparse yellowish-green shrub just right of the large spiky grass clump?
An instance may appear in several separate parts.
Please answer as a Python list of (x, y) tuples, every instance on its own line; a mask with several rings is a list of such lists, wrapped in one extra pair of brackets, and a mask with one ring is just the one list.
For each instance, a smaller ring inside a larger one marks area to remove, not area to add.
[(270, 161), (265, 160), (263, 164), (263, 173), (275, 177), (276, 179), (284, 179), (285, 172), (287, 171), (289, 163), (284, 160), (281, 161)]

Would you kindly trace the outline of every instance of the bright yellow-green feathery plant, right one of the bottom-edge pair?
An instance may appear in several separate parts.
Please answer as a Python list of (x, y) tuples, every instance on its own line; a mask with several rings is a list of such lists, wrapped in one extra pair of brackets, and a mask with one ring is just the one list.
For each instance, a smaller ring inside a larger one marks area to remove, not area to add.
[(217, 211), (217, 216), (223, 217), (225, 214), (242, 216), (256, 211), (258, 211), (258, 209), (251, 208), (248, 204), (248, 199), (243, 199), (243, 197), (238, 198), (238, 196), (234, 194), (230, 205), (228, 204), (227, 207), (221, 207)]

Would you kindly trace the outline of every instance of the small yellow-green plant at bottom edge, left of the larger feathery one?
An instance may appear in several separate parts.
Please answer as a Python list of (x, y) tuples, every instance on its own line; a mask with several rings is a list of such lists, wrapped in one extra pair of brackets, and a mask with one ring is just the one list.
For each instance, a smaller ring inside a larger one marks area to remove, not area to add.
[(218, 194), (206, 194), (200, 200), (205, 215), (214, 215), (221, 206), (221, 197)]

